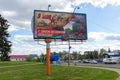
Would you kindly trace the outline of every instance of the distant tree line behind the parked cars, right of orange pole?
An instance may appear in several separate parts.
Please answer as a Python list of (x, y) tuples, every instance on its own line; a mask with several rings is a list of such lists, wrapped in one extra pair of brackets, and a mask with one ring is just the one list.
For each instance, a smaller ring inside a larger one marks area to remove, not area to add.
[(102, 59), (103, 54), (108, 52), (104, 48), (100, 49), (99, 51), (94, 50), (94, 51), (85, 51), (84, 53), (80, 53), (77, 51), (74, 51), (69, 54), (68, 51), (63, 51), (63, 52), (53, 52), (53, 54), (58, 54), (61, 57), (61, 60), (68, 60), (68, 55), (70, 55), (71, 60), (82, 60), (82, 59)]

